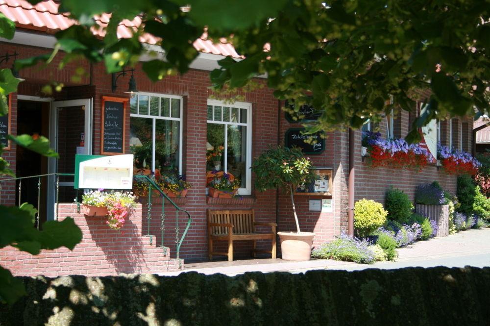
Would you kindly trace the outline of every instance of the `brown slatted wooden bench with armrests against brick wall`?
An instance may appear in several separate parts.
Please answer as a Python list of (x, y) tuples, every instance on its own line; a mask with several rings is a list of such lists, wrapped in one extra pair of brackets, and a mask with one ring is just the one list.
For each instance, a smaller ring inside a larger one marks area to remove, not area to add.
[[(255, 222), (253, 209), (250, 210), (209, 210), (208, 209), (208, 244), (209, 259), (213, 255), (228, 256), (228, 261), (233, 261), (233, 241), (235, 240), (253, 240), (252, 255), (255, 258), (257, 252), (270, 253), (274, 259), (276, 257), (276, 226), (275, 223)], [(270, 226), (271, 233), (257, 233), (255, 226)], [(270, 251), (257, 250), (255, 247), (256, 240), (270, 239), (272, 249)], [(213, 241), (227, 240), (228, 252), (213, 251)]]

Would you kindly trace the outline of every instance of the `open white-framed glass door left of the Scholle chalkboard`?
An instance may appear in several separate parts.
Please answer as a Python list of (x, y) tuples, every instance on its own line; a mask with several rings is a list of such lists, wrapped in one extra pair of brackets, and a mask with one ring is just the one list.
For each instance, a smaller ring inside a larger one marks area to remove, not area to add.
[(53, 209), (48, 209), (48, 220), (56, 217), (56, 200), (75, 200), (73, 176), (62, 174), (75, 172), (75, 154), (92, 154), (92, 102), (92, 99), (66, 100), (51, 105), (49, 140), (59, 158), (49, 159), (48, 207)]

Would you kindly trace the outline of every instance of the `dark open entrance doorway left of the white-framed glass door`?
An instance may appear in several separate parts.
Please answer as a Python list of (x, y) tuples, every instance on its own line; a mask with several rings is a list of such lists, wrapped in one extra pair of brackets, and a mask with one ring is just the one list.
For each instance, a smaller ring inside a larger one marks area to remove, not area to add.
[[(18, 100), (17, 102), (17, 134), (29, 134), (49, 136), (49, 102)], [(26, 150), (17, 146), (16, 150), (17, 177), (40, 176), (48, 173), (48, 158), (32, 150)], [(21, 192), (16, 191), (16, 204), (28, 202), (39, 210), (39, 222), (42, 224), (47, 219), (47, 180), (39, 178), (22, 179)], [(20, 180), (16, 189), (19, 189)], [(20, 198), (19, 198), (20, 196)]]

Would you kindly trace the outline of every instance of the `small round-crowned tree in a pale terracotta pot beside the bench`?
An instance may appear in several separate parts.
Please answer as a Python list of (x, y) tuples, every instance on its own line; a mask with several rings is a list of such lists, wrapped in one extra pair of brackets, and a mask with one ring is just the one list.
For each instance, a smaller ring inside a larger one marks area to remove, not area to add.
[(294, 191), (316, 179), (309, 158), (299, 148), (270, 148), (254, 159), (255, 188), (258, 191), (282, 189), (291, 196), (296, 232), (277, 232), (281, 240), (282, 258), (285, 260), (309, 260), (315, 233), (301, 232), (294, 205)]

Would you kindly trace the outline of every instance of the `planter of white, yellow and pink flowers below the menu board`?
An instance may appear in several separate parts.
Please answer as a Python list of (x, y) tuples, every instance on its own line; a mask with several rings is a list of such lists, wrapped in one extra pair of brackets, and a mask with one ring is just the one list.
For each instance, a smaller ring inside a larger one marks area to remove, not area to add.
[(107, 226), (119, 230), (124, 226), (129, 210), (135, 207), (135, 199), (130, 192), (90, 191), (82, 196), (83, 214), (85, 216), (106, 216)]

